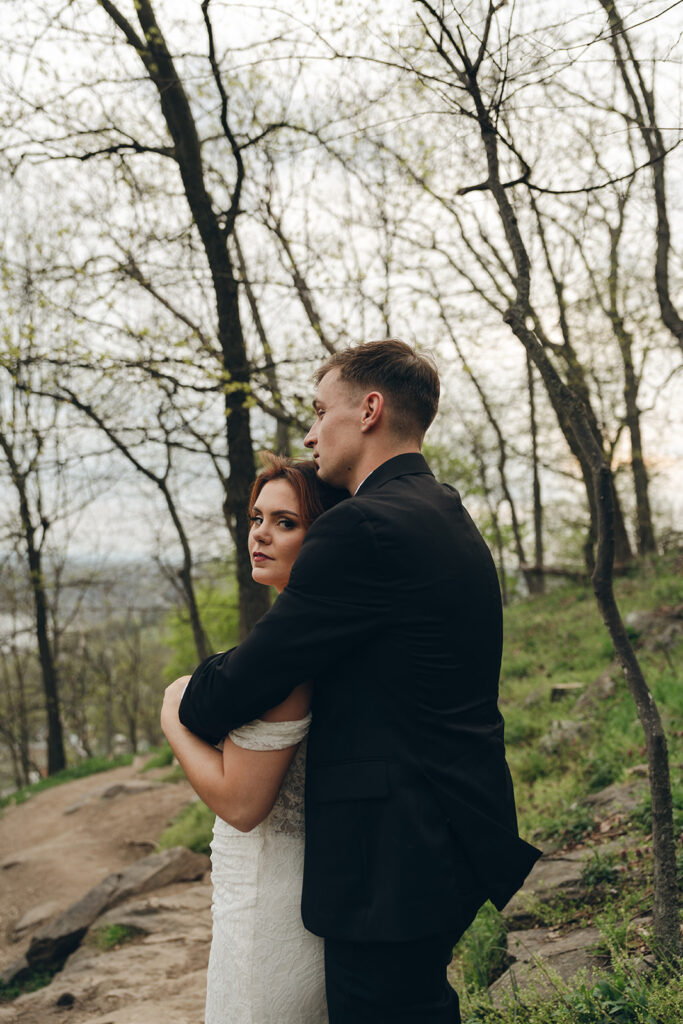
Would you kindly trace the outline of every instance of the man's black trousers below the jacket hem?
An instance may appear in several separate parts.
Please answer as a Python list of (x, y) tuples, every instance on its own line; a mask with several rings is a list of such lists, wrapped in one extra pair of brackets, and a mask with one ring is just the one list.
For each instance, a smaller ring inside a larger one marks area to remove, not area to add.
[(447, 934), (412, 942), (326, 939), (330, 1024), (460, 1024), (445, 969), (475, 914)]

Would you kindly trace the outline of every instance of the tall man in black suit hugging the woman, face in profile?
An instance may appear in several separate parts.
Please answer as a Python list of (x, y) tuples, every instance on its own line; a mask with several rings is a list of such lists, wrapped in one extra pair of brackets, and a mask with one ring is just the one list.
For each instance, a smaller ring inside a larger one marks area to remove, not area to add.
[(539, 856), (505, 761), (498, 580), (420, 454), (431, 362), (370, 342), (316, 382), (304, 443), (352, 497), (310, 527), (247, 640), (200, 666), (180, 720), (215, 740), (312, 678), (302, 915), (326, 940), (330, 1022), (452, 1024), (454, 944)]

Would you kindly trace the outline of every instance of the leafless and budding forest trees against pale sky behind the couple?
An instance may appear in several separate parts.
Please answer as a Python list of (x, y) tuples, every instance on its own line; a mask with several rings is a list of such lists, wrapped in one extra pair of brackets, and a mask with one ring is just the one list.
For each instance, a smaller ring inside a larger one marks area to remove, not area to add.
[[(267, 607), (258, 451), (302, 454), (327, 354), (398, 336), (438, 364), (426, 455), (506, 604), (592, 581), (673, 950), (675, 669), (645, 659), (663, 729), (611, 577), (675, 602), (683, 3), (0, 10), (0, 790), (159, 743), (166, 683)], [(551, 670), (520, 636), (530, 686)]]

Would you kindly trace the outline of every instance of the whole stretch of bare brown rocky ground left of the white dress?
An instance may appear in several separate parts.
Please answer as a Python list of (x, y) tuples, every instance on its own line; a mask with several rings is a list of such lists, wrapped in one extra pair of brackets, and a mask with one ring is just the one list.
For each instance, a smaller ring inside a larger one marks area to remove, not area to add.
[[(0, 1022), (204, 1019), (208, 858), (153, 854), (193, 793), (185, 782), (162, 783), (139, 767), (68, 782), (5, 810), (0, 974), (8, 978), (27, 954), (34, 964), (49, 958), (59, 942), (77, 948), (49, 985), (0, 1006)], [(103, 950), (98, 935), (114, 924), (127, 925), (133, 938)]]

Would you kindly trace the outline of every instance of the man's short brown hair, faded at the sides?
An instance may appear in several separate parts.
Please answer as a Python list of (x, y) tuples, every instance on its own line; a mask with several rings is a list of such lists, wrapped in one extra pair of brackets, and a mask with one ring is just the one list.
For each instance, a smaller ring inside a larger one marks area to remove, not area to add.
[(389, 423), (399, 436), (422, 438), (438, 409), (440, 384), (433, 360), (399, 341), (385, 338), (335, 352), (315, 371), (319, 384), (331, 370), (357, 388), (381, 391)]

